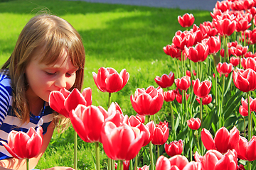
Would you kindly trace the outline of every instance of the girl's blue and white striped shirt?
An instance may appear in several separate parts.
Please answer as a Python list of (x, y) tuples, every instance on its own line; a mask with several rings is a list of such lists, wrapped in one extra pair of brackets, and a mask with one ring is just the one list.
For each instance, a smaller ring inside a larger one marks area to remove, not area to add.
[[(29, 128), (43, 128), (43, 134), (46, 133), (48, 125), (53, 120), (53, 110), (48, 103), (43, 104), (40, 115), (31, 114), (30, 122), (22, 124), (21, 119), (17, 118), (12, 110), (12, 89), (9, 76), (0, 74), (0, 140), (7, 142), (11, 130), (27, 132)], [(12, 157), (11, 154), (1, 145), (0, 142), (0, 160)]]

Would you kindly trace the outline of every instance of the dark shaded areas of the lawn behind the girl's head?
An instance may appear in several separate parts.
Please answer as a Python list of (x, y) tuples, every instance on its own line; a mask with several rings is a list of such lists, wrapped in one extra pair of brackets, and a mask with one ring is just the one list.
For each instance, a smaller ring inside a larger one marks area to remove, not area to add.
[[(78, 29), (87, 56), (97, 57), (100, 60), (106, 58), (109, 60), (129, 60), (131, 58), (134, 60), (165, 60), (166, 56), (162, 47), (171, 44), (171, 39), (177, 30), (184, 30), (178, 24), (178, 15), (183, 15), (186, 12), (193, 13), (197, 26), (203, 21), (211, 21), (209, 11), (184, 11), (177, 8), (93, 4), (85, 1), (8, 1), (0, 3), (0, 13), (35, 14), (44, 8), (48, 8), (51, 13), (60, 17), (88, 13), (140, 12), (139, 15), (123, 16), (107, 21), (105, 28)], [(0, 39), (1, 51), (11, 53), (15, 43), (15, 38)]]

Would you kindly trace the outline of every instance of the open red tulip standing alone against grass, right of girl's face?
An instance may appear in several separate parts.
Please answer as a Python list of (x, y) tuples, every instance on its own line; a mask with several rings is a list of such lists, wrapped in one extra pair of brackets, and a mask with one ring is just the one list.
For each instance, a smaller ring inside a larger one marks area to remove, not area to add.
[(102, 92), (114, 93), (124, 88), (129, 79), (129, 73), (122, 69), (120, 74), (113, 68), (100, 67), (98, 74), (92, 72), (98, 89)]

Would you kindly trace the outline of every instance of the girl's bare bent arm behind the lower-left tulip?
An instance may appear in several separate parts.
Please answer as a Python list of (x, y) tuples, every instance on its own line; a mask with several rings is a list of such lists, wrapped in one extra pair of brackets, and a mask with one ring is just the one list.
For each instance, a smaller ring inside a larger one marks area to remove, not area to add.
[[(48, 125), (47, 132), (45, 135), (43, 135), (43, 145), (41, 147), (41, 150), (39, 154), (36, 157), (33, 157), (29, 159), (29, 169), (33, 169), (36, 167), (36, 164), (38, 164), (39, 159), (42, 157), (43, 153), (46, 151), (46, 148), (48, 147), (48, 144), (50, 142), (50, 139), (53, 135), (54, 130), (54, 121)], [(9, 158), (4, 159), (0, 161), (0, 170), (7, 170), (7, 169), (17, 169), (17, 170), (24, 170), (26, 169), (26, 159), (16, 159), (16, 158)], [(53, 167), (49, 170), (71, 170), (72, 168), (67, 167)]]

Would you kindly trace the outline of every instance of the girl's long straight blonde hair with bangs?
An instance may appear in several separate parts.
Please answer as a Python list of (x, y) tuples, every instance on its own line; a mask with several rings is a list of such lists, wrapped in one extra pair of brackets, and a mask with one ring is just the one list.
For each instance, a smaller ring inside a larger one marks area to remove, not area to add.
[[(75, 28), (63, 18), (43, 14), (31, 18), (21, 31), (14, 52), (3, 65), (2, 71), (8, 70), (13, 89), (12, 106), (16, 108), (14, 113), (18, 118), (21, 118), (23, 123), (28, 123), (30, 118), (29, 103), (26, 100), (25, 93), (28, 84), (24, 74), (28, 63), (34, 56), (33, 54), (40, 50), (43, 51), (40, 62), (54, 64), (61, 57), (60, 54), (64, 49), (67, 50), (73, 65), (79, 68), (76, 72), (75, 84), (70, 91), (74, 88), (81, 91), (84, 77), (85, 49)], [(56, 119), (56, 121), (59, 124), (67, 122), (63, 117)]]

